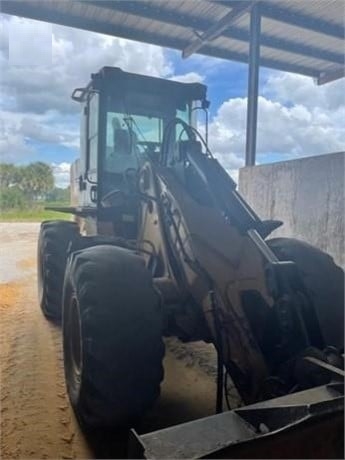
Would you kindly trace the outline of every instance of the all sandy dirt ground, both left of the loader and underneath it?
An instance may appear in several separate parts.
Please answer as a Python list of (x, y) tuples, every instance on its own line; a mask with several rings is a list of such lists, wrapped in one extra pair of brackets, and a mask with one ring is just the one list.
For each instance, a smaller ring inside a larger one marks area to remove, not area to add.
[[(121, 457), (112, 433), (80, 431), (66, 394), (61, 330), (41, 314), (36, 294), (39, 224), (1, 223), (1, 452), (16, 458)], [(139, 430), (211, 415), (216, 355), (211, 345), (167, 340), (160, 400)]]

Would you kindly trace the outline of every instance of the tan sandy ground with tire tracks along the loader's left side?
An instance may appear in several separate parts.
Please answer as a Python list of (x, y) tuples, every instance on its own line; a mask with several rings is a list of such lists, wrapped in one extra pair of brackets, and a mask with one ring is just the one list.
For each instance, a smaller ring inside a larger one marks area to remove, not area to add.
[(60, 329), (36, 296), (39, 225), (1, 224), (1, 457), (88, 458), (66, 397)]

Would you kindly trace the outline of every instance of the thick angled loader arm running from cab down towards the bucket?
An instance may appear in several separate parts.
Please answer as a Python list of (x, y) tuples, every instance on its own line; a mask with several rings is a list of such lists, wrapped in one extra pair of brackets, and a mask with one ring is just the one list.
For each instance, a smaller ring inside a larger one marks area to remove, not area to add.
[(304, 350), (326, 345), (297, 267), (270, 250), (260, 233), (275, 224), (260, 220), (219, 163), (195, 139), (181, 144), (180, 156), (142, 170), (141, 192), (154, 200), (143, 205), (139, 241), (155, 245), (159, 275), (199, 307), (211, 335), (202, 338), (243, 400), (269, 396), (272, 379), (289, 391)]

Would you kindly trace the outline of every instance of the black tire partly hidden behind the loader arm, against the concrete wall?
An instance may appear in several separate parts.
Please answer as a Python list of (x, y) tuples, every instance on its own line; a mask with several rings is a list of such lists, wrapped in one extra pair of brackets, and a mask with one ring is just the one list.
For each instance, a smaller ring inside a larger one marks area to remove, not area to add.
[(296, 263), (313, 302), (325, 345), (344, 348), (344, 271), (332, 257), (293, 238), (266, 241), (279, 260)]

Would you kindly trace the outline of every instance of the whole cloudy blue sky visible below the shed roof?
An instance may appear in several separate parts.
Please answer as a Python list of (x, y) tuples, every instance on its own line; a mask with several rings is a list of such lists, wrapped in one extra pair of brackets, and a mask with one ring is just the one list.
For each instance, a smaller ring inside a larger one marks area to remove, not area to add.
[[(69, 184), (78, 157), (79, 105), (72, 90), (103, 66), (208, 86), (209, 146), (236, 180), (244, 165), (247, 66), (93, 32), (0, 15), (0, 162), (53, 166)], [(257, 162), (345, 150), (345, 79), (260, 71)]]

